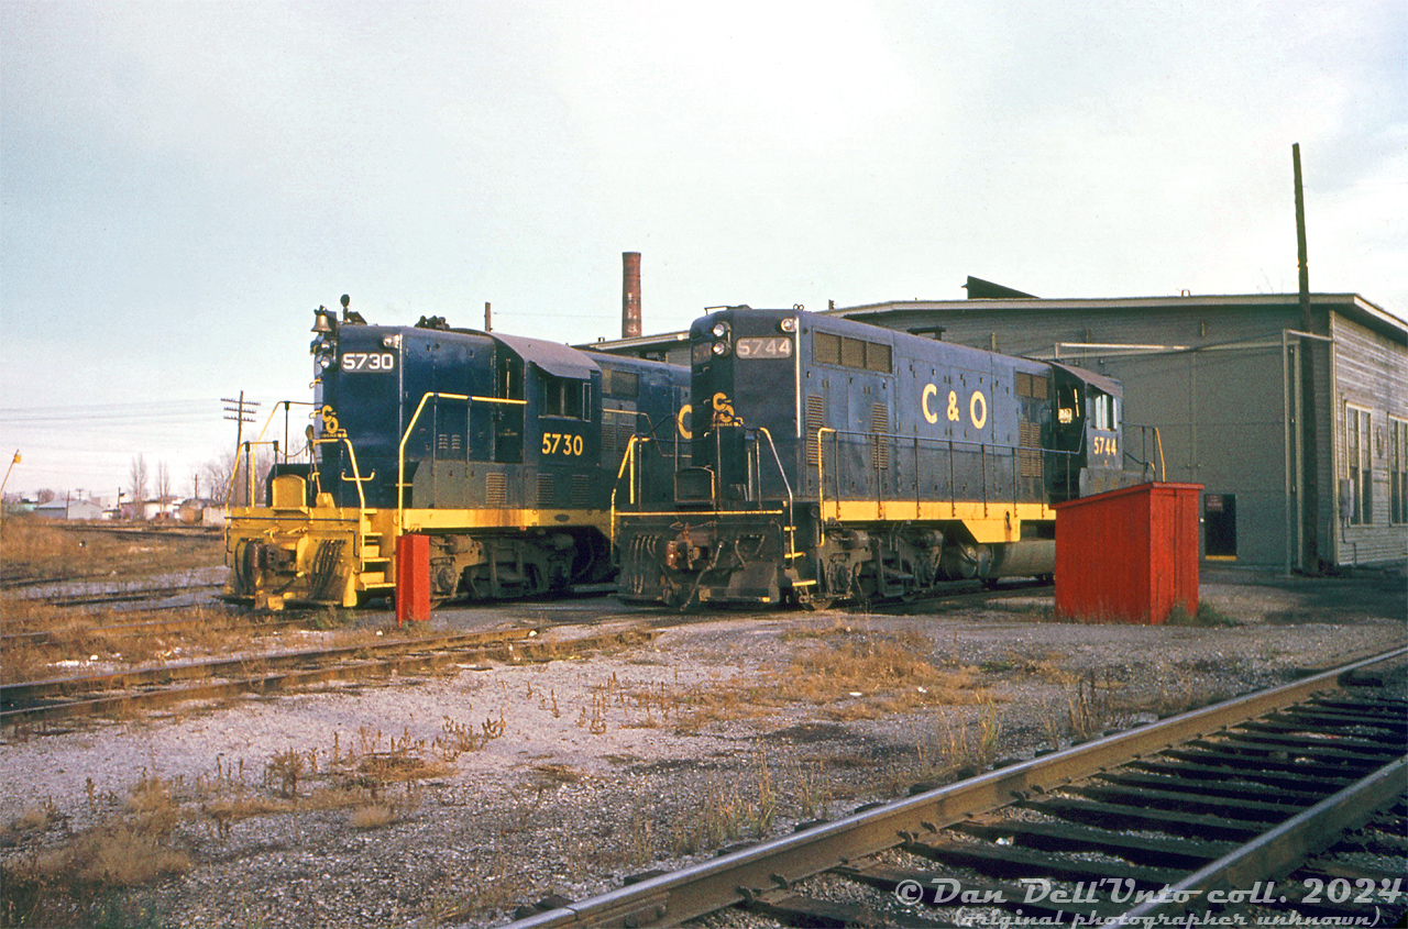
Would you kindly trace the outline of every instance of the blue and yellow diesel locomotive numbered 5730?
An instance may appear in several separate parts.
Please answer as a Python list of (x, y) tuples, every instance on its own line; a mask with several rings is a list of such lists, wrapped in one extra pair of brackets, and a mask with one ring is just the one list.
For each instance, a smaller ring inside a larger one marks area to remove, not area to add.
[(679, 445), (689, 369), (342, 307), (315, 314), (306, 460), (270, 470), (265, 505), (231, 511), (227, 598), (389, 595), (404, 533), (431, 539), (435, 601), (610, 581), (622, 456), (638, 434)]

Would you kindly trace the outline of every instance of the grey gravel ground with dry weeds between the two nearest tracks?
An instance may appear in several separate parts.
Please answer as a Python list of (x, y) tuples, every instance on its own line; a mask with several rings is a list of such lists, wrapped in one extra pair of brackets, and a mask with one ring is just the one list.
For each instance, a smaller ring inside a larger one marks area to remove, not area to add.
[[(6, 732), (4, 919), (494, 925), (548, 894), (1408, 642), (1402, 573), (1219, 570), (1202, 598), (1231, 625), (1059, 624), (1049, 594), (701, 617), (607, 655)], [(652, 615), (598, 602), (608, 625)], [(156, 873), (124, 877), (118, 859)]]

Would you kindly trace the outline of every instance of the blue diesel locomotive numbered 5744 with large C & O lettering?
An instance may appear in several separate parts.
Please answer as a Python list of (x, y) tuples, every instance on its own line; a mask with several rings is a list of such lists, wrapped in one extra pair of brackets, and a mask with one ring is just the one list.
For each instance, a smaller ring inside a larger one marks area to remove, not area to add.
[(712, 312), (690, 343), (693, 457), (673, 504), (618, 514), (627, 601), (824, 607), (1048, 576), (1052, 505), (1140, 480), (1119, 384), (1077, 367), (800, 307)]

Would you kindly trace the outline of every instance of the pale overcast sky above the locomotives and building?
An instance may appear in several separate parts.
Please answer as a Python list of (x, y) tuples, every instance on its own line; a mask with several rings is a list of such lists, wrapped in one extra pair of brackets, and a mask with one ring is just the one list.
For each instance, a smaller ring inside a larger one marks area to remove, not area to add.
[(620, 335), (624, 251), (646, 332), (1290, 293), (1293, 142), (1312, 290), (1408, 317), (1405, 0), (0, 0), (0, 49), (8, 491), (189, 491), (342, 293), (563, 342)]

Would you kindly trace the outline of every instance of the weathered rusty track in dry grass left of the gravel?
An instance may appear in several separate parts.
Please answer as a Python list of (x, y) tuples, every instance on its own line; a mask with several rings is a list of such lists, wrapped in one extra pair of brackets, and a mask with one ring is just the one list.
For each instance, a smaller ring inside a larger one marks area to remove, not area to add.
[(177, 662), (3, 684), (0, 726), (132, 712), (244, 693), (284, 691), (393, 671), (431, 671), (466, 660), (539, 660), (612, 645), (639, 645), (653, 635), (649, 629), (632, 626), (555, 642), (545, 640), (538, 629), (508, 629)]

